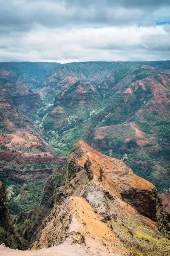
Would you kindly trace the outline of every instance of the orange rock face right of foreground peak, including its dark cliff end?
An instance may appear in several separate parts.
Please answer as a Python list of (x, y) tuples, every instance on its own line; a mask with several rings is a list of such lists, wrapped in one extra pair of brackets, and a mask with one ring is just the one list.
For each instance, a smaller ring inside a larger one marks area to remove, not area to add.
[(121, 160), (107, 157), (82, 141), (74, 145), (70, 161), (75, 156), (79, 156), (76, 159), (79, 169), (91, 161), (94, 180), (102, 188), (131, 204), (142, 215), (156, 220), (156, 188), (150, 182), (134, 175)]

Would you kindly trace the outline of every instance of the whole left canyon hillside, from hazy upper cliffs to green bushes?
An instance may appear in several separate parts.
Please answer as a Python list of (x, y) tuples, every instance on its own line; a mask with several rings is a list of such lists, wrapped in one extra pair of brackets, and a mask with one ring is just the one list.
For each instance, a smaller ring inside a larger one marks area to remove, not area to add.
[(40, 204), (45, 180), (55, 164), (66, 161), (31, 121), (43, 105), (28, 85), (18, 84), (14, 73), (0, 70), (0, 180), (14, 215)]

